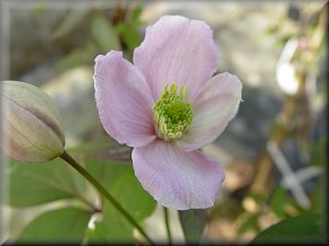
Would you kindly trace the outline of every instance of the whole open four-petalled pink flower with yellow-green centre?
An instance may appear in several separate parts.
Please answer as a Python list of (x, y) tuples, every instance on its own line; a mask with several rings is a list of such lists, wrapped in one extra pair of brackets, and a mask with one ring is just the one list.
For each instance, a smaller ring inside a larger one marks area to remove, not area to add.
[(212, 77), (218, 50), (209, 26), (162, 16), (147, 27), (133, 62), (121, 51), (95, 58), (100, 119), (117, 142), (133, 147), (135, 175), (160, 204), (178, 209), (214, 206), (225, 174), (198, 151), (236, 115), (241, 82)]

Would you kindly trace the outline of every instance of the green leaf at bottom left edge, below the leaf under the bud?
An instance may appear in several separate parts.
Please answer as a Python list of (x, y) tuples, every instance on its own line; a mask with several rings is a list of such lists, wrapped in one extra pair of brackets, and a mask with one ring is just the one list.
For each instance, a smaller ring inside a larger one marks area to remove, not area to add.
[(91, 214), (81, 209), (64, 208), (46, 212), (32, 221), (19, 243), (81, 243)]

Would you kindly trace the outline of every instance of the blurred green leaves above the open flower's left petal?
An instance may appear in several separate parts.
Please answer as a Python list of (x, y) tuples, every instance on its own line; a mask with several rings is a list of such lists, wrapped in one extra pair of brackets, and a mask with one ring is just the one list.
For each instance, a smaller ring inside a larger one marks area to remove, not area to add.
[(81, 26), (83, 20), (88, 21), (88, 36), (81, 37), (83, 45), (71, 50), (59, 62), (61, 70), (80, 65), (93, 63), (98, 54), (110, 50), (123, 50), (127, 59), (132, 59), (133, 51), (140, 42), (143, 22), (139, 16), (141, 5), (117, 5), (114, 10), (73, 9), (54, 31), (53, 40), (60, 42), (70, 38), (71, 33)]

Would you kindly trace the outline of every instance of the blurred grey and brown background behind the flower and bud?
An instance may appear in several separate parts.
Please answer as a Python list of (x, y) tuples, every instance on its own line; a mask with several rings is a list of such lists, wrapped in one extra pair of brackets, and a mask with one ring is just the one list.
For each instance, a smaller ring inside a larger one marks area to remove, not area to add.
[[(146, 26), (163, 14), (207, 22), (220, 52), (218, 72), (240, 78), (243, 102), (224, 133), (203, 149), (226, 171), (216, 206), (204, 219), (204, 241), (249, 242), (284, 218), (327, 215), (327, 1), (1, 3), (1, 80), (33, 83), (54, 98), (68, 148), (113, 141), (95, 108), (98, 54), (124, 50), (132, 60)], [(113, 142), (93, 154), (127, 160), (131, 149)], [(4, 238), (14, 238), (39, 211), (2, 209)], [(144, 223), (154, 238), (166, 238), (161, 212), (157, 208)], [(181, 242), (175, 211), (170, 224)]]

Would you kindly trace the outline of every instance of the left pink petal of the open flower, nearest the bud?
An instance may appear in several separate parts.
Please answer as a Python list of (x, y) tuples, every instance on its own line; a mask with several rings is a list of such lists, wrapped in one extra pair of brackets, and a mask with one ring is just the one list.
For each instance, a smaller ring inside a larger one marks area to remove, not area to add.
[(140, 72), (122, 52), (95, 58), (95, 99), (106, 132), (117, 142), (140, 147), (156, 137), (150, 90)]

